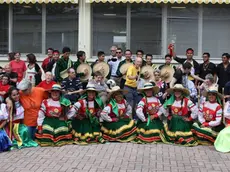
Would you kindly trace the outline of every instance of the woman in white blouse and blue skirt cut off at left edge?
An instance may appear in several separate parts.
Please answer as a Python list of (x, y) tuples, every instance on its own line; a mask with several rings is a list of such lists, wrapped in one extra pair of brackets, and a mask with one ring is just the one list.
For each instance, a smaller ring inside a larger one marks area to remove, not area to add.
[(0, 152), (4, 152), (10, 150), (12, 144), (9, 136), (6, 134), (6, 131), (4, 129), (9, 118), (6, 104), (2, 103), (0, 106)]

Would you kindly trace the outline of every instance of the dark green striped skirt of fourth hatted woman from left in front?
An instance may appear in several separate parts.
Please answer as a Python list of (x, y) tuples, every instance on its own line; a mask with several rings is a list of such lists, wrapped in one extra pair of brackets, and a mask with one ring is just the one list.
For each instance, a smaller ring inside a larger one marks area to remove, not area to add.
[(156, 143), (162, 142), (164, 125), (162, 121), (158, 119), (152, 120), (147, 126), (146, 122), (137, 122), (137, 137), (134, 140), (135, 143)]

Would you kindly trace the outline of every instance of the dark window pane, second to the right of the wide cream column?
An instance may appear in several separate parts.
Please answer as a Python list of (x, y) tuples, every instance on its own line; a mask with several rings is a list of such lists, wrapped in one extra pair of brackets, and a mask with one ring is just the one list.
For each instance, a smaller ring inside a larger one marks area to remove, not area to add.
[(161, 54), (161, 17), (159, 4), (131, 4), (131, 49), (145, 54)]

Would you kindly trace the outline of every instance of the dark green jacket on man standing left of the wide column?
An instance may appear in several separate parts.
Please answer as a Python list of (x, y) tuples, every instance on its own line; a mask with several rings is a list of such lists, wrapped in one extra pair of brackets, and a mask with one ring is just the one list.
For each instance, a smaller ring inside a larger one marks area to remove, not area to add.
[(58, 82), (61, 82), (63, 79), (60, 75), (60, 73), (64, 70), (67, 70), (68, 68), (73, 66), (72, 60), (69, 58), (67, 60), (64, 59), (64, 57), (61, 57), (57, 63), (55, 68), (55, 77)]

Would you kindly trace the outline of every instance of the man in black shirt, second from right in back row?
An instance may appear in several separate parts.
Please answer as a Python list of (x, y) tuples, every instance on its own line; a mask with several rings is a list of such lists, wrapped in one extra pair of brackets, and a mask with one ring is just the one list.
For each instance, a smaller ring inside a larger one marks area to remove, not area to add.
[(207, 74), (212, 74), (214, 76), (214, 82), (216, 82), (216, 65), (209, 61), (210, 54), (208, 52), (203, 53), (203, 63), (200, 64), (200, 74), (202, 79), (205, 79)]

